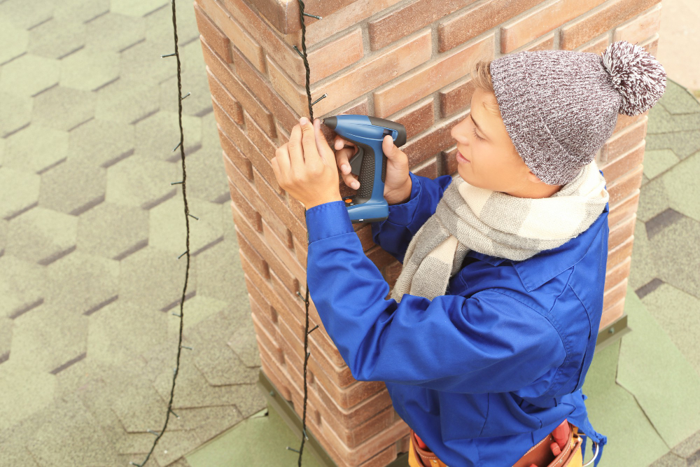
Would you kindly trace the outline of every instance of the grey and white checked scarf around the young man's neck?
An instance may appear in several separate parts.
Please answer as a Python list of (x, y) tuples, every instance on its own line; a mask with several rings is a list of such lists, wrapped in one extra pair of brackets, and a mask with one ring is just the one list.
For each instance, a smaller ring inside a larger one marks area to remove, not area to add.
[(511, 196), (454, 176), (411, 239), (391, 298), (444, 295), (470, 250), (521, 261), (554, 249), (587, 230), (609, 197), (595, 160), (547, 198)]

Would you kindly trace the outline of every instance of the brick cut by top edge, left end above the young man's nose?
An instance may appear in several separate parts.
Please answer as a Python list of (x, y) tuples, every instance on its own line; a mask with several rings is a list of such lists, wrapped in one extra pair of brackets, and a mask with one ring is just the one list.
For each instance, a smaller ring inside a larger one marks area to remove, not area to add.
[[(543, 0), (489, 0), (465, 8), (437, 26), (437, 51), (445, 52), (527, 11)], [(534, 38), (533, 38), (534, 39)]]

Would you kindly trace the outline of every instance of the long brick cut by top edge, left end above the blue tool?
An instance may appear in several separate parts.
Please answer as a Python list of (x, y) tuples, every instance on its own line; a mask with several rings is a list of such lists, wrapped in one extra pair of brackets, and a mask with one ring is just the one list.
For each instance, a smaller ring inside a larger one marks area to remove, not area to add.
[(367, 23), (370, 49), (377, 50), (476, 0), (413, 0)]

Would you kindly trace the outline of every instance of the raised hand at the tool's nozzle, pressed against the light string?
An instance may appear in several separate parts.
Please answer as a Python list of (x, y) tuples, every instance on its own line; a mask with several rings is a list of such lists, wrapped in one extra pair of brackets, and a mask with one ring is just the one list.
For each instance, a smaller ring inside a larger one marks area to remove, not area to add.
[(318, 118), (314, 125), (308, 118), (300, 118), (299, 125), (292, 128), (289, 141), (277, 148), (271, 162), (279, 186), (306, 209), (342, 201), (335, 153), (321, 132)]

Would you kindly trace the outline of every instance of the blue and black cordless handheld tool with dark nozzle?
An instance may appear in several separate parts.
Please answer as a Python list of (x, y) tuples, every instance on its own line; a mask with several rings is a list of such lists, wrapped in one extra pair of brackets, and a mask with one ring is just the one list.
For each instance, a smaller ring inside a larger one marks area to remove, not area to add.
[[(384, 199), (386, 155), (381, 143), (387, 134), (397, 147), (406, 143), (406, 128), (400, 123), (368, 115), (337, 115), (323, 119), (323, 125), (357, 145), (358, 151), (348, 161), (351, 173), (358, 176), (360, 188), (345, 198), (353, 223), (381, 222), (388, 218), (389, 207)], [(380, 170), (381, 167), (381, 170)]]

